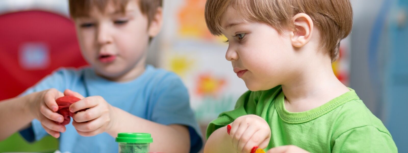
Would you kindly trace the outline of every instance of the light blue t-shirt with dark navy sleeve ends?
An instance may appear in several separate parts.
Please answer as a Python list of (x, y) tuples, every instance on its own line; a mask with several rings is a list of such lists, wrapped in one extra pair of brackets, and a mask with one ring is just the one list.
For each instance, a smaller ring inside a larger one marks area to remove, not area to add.
[[(191, 139), (191, 153), (200, 151), (202, 136), (190, 107), (188, 91), (180, 78), (163, 69), (147, 65), (146, 71), (129, 82), (112, 82), (101, 78), (90, 68), (59, 69), (47, 76), (35, 86), (27, 89), (22, 95), (55, 88), (63, 92), (71, 89), (84, 97), (100, 95), (112, 106), (118, 107), (135, 116), (156, 123), (188, 126)], [(118, 143), (108, 133), (92, 137), (83, 137), (77, 133), (71, 123), (59, 138), (60, 151), (72, 153), (115, 153)], [(135, 125), (143, 126), (143, 125)], [(32, 126), (20, 131), (27, 141), (40, 140), (48, 133), (38, 120)], [(154, 140), (153, 140), (154, 143)], [(164, 151), (165, 152), (165, 151)]]

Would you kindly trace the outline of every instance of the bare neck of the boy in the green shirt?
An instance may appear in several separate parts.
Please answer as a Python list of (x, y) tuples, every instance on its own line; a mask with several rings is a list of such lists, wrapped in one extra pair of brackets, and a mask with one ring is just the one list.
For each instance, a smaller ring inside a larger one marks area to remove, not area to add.
[(290, 112), (308, 111), (350, 91), (334, 75), (331, 61), (313, 61), (302, 72), (282, 84), (285, 108)]

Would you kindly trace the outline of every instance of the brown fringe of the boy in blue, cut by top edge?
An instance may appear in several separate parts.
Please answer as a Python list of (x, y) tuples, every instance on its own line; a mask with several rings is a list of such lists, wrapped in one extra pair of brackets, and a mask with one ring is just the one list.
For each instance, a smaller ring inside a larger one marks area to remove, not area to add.
[[(130, 0), (69, 0), (69, 13), (72, 18), (88, 16), (93, 6), (103, 12), (109, 2), (118, 8), (122, 13), (126, 10), (126, 5)], [(163, 0), (138, 0), (140, 11), (146, 14), (149, 23), (153, 20), (157, 8), (162, 7)]]

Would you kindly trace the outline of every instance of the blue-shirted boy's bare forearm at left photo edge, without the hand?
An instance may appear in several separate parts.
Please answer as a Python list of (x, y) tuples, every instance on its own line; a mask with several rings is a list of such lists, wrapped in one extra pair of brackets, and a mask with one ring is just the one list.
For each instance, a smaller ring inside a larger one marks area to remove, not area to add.
[(37, 93), (0, 102), (0, 141), (30, 125), (34, 115), (29, 110), (29, 101)]

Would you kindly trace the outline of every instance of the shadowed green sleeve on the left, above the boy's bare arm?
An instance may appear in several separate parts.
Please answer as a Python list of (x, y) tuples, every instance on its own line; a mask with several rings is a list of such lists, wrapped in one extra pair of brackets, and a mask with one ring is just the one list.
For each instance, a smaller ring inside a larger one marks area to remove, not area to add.
[(254, 92), (247, 91), (241, 95), (235, 104), (234, 110), (221, 113), (218, 118), (208, 124), (206, 138), (208, 139), (215, 130), (232, 123), (240, 116), (255, 113), (255, 103), (253, 101)]

